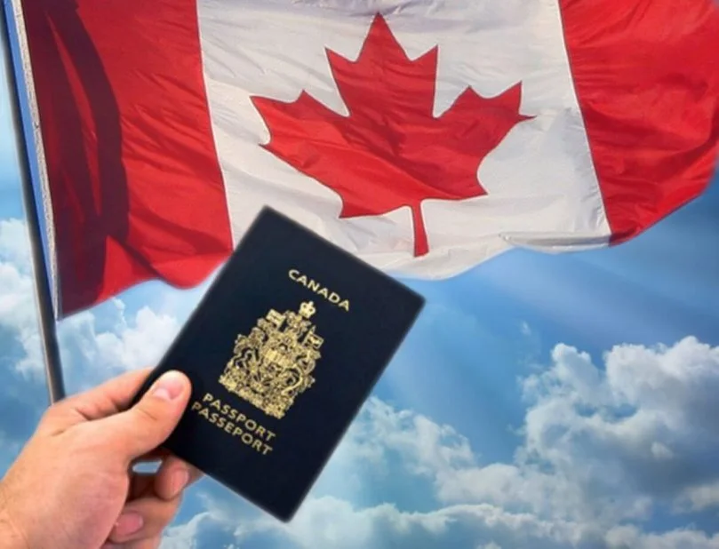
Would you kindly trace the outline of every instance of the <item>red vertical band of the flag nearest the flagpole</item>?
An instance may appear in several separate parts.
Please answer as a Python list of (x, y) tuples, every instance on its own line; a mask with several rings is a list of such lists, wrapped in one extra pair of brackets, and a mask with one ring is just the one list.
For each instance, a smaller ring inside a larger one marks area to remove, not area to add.
[(232, 250), (195, 0), (25, 0), (60, 315)]

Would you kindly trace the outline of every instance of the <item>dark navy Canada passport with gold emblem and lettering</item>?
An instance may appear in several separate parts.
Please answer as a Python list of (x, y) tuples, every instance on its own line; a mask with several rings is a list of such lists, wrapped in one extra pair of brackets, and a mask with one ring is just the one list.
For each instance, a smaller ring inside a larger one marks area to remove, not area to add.
[(423, 306), (265, 207), (134, 402), (164, 371), (187, 374), (164, 448), (290, 521)]

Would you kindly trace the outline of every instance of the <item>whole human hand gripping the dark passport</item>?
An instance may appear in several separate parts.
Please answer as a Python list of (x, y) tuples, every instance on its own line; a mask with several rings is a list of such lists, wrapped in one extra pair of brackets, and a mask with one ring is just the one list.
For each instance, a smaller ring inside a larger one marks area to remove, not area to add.
[[(45, 412), (0, 481), (0, 549), (160, 545), (182, 490), (200, 473), (156, 450), (188, 404), (184, 374), (164, 374), (125, 410), (148, 374), (132, 371)], [(132, 472), (157, 459), (156, 473)]]

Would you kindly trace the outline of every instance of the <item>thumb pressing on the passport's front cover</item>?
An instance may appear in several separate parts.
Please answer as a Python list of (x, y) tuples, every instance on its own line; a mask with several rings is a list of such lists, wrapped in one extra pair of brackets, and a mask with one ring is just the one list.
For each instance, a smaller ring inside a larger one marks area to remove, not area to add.
[(96, 426), (112, 439), (119, 457), (132, 461), (155, 450), (180, 422), (191, 386), (179, 371), (165, 372), (129, 410), (100, 419)]

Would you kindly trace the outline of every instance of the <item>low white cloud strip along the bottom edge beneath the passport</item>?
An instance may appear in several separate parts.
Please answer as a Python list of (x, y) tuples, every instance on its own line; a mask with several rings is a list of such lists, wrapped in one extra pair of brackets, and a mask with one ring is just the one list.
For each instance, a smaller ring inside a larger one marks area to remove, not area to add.
[[(211, 505), (217, 507), (217, 505)], [(444, 549), (447, 546), (477, 546), (492, 543), (500, 547), (523, 547), (526, 540), (536, 549), (562, 549), (573, 546), (582, 533), (579, 526), (562, 521), (541, 521), (529, 513), (507, 513), (487, 504), (450, 505), (429, 512), (407, 512), (392, 504), (359, 508), (337, 497), (308, 497), (295, 518), (287, 524), (261, 515), (248, 520), (238, 515), (220, 519), (213, 510), (199, 525), (173, 527), (168, 539), (200, 539), (209, 529), (228, 531), (235, 528), (238, 546), (258, 549), (389, 549), (390, 547), (422, 547)], [(223, 538), (228, 543), (228, 538)], [(164, 545), (163, 545), (164, 546)], [(178, 545), (184, 549), (186, 546)], [(217, 545), (196, 545), (214, 547)], [(174, 545), (168, 545), (174, 549)]]

